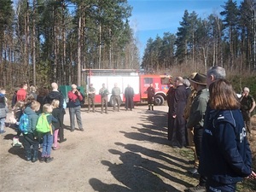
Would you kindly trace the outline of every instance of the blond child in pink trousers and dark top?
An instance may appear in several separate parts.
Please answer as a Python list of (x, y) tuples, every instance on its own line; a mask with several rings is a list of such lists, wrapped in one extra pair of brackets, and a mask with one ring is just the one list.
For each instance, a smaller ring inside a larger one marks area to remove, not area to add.
[(54, 135), (54, 147), (53, 149), (59, 149), (60, 147), (58, 146), (58, 133), (59, 133), (59, 128), (61, 127), (61, 109), (59, 108), (60, 101), (54, 99), (51, 102), (52, 105), (52, 115), (57, 119), (57, 122), (53, 122), (53, 125), (55, 127), (55, 135)]

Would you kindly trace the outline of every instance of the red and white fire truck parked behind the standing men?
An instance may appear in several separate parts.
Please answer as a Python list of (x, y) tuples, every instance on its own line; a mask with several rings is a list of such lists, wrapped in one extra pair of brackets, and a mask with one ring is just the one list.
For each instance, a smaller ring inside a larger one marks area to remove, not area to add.
[(108, 102), (113, 106), (113, 99), (111, 96), (111, 90), (115, 83), (121, 90), (121, 100), (125, 102), (125, 88), (128, 84), (134, 90), (134, 102), (146, 102), (147, 94), (145, 91), (148, 89), (149, 84), (153, 84), (155, 89), (154, 102), (155, 105), (162, 105), (166, 100), (166, 92), (169, 89), (168, 84), (172, 79), (167, 75), (151, 75), (140, 74), (136, 70), (131, 69), (84, 69), (86, 77), (86, 90), (88, 90), (89, 84), (93, 84), (96, 89), (95, 102), (101, 102), (101, 96), (99, 90), (102, 88), (102, 84), (106, 84), (110, 94), (108, 95)]

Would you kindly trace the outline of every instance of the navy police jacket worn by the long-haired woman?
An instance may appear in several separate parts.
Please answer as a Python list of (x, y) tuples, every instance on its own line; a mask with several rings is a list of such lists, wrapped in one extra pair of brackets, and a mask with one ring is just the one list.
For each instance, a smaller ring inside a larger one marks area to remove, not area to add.
[(199, 172), (218, 183), (237, 183), (252, 172), (241, 111), (211, 110), (207, 117)]

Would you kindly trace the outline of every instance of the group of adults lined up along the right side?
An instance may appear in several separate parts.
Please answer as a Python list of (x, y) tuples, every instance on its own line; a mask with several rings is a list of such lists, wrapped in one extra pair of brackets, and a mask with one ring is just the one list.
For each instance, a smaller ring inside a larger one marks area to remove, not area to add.
[(168, 140), (194, 151), (189, 172), (200, 176), (189, 192), (235, 192), (243, 178), (256, 178), (247, 141), (255, 101), (247, 87), (239, 98), (225, 76), (223, 67), (211, 67), (206, 75), (177, 77), (167, 92)]

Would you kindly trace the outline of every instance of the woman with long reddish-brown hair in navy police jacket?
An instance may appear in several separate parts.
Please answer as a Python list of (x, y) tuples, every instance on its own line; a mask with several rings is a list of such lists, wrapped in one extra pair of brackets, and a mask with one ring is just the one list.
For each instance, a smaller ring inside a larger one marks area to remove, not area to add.
[(256, 178), (240, 102), (225, 79), (210, 84), (209, 92), (199, 172), (207, 177), (207, 191), (235, 192), (243, 177)]

